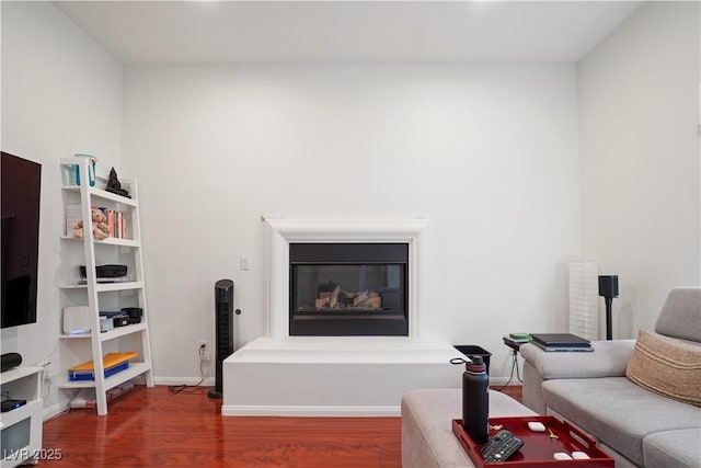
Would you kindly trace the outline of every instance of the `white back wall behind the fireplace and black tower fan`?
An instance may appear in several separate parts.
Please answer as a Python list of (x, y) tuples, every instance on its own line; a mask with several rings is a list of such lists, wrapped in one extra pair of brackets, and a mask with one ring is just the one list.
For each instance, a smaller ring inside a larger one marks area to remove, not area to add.
[(127, 67), (124, 96), (157, 381), (198, 375), (217, 279), (235, 283), (239, 344), (263, 333), (261, 215), (428, 216), (433, 334), (494, 353), (494, 376), (504, 334), (566, 329), (574, 66)]

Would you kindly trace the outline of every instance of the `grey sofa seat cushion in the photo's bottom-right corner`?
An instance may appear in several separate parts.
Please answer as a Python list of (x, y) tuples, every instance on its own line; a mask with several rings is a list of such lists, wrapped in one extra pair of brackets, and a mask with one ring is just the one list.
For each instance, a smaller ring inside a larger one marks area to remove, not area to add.
[(701, 429), (651, 434), (643, 438), (645, 468), (701, 468)]

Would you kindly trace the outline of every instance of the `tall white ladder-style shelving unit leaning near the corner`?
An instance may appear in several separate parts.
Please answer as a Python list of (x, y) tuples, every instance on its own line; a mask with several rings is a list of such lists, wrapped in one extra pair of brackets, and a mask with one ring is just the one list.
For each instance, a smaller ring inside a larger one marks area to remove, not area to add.
[[(96, 178), (94, 186), (88, 183), (90, 161), (74, 158), (61, 160), (64, 175), (64, 207), (80, 205), (83, 224), (83, 239), (77, 240), (61, 236), (62, 284), (60, 287), (61, 308), (68, 306), (88, 306), (91, 317), (89, 334), (61, 334), (61, 364), (64, 370), (92, 361), (95, 380), (66, 381), (60, 388), (77, 392), (81, 388), (94, 388), (97, 414), (107, 414), (107, 391), (127, 380), (143, 375), (146, 385), (153, 386), (151, 367), (151, 345), (148, 327), (148, 309), (143, 284), (143, 262), (139, 227), (138, 186), (136, 180), (120, 179), (122, 186), (129, 191), (131, 198), (106, 192), (106, 181)], [(80, 171), (81, 184), (74, 183), (74, 171)], [(91, 225), (85, 222), (92, 217), (92, 207), (105, 207), (122, 212), (126, 219), (126, 237), (108, 237), (95, 240)], [(82, 247), (82, 249), (81, 249)], [(126, 282), (99, 283), (95, 266), (101, 264), (127, 265)], [(79, 267), (85, 265), (87, 281), (80, 283)], [(100, 332), (100, 311), (115, 311), (124, 307), (140, 307), (143, 310), (140, 323), (118, 327)], [(137, 362), (129, 362), (128, 368), (110, 377), (104, 377), (102, 357), (110, 352), (136, 351)]]

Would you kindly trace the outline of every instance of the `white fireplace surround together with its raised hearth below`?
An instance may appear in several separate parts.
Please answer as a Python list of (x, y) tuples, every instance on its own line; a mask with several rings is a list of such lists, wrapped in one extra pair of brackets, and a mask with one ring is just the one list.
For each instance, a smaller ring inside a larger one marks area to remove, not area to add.
[[(417, 388), (459, 387), (460, 354), (424, 336), (425, 218), (265, 220), (265, 336), (223, 362), (223, 415), (399, 415)], [(405, 242), (409, 336), (290, 336), (290, 242)]]

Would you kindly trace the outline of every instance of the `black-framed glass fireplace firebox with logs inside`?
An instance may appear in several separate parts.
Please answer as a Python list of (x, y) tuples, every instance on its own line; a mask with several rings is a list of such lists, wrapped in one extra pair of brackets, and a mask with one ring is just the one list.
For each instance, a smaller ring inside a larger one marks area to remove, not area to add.
[(289, 334), (407, 336), (407, 243), (289, 244)]

